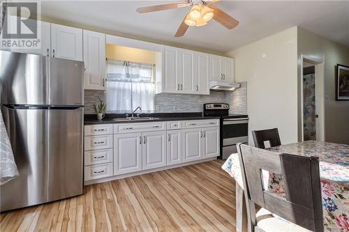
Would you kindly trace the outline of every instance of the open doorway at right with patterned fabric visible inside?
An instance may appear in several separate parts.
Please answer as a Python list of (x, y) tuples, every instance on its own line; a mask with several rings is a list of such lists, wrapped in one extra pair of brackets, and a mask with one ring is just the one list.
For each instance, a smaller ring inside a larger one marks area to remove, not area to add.
[(302, 58), (302, 140), (324, 141), (324, 63)]

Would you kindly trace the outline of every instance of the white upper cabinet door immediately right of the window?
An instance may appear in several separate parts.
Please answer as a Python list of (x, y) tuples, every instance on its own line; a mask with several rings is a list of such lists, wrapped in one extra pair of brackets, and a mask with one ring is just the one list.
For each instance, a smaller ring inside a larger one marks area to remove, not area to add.
[(163, 92), (178, 93), (179, 91), (179, 49), (163, 47)]

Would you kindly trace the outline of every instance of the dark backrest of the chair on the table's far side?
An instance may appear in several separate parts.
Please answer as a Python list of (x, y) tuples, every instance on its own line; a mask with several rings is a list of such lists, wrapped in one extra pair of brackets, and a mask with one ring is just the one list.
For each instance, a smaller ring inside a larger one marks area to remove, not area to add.
[(252, 136), (256, 148), (265, 149), (265, 141), (269, 141), (270, 146), (281, 145), (278, 128), (268, 130), (253, 130)]

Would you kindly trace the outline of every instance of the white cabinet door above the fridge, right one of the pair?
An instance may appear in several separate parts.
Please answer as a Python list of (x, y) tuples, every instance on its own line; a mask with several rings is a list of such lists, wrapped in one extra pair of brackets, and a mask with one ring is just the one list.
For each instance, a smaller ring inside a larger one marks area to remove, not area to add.
[(51, 24), (52, 56), (82, 61), (82, 29)]

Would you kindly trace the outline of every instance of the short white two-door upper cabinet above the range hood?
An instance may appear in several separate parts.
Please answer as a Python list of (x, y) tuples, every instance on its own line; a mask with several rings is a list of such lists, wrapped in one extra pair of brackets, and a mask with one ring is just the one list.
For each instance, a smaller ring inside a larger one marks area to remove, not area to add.
[(225, 56), (210, 56), (211, 81), (234, 83), (234, 59)]

